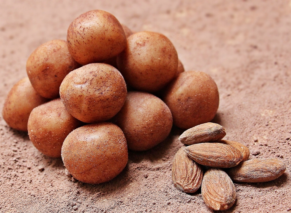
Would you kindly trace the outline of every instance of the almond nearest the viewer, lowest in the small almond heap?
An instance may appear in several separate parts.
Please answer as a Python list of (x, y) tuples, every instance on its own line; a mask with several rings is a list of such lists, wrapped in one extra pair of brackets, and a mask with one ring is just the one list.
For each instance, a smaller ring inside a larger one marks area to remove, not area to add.
[(229, 209), (236, 201), (236, 188), (221, 169), (211, 168), (206, 171), (201, 193), (206, 205), (213, 210)]

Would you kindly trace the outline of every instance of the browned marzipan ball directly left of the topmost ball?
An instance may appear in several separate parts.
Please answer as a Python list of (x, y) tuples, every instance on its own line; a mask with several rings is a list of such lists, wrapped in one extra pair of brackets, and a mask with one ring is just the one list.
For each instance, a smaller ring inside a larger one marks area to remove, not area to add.
[(28, 57), (26, 72), (42, 97), (59, 97), (59, 88), (65, 76), (80, 65), (70, 55), (65, 40), (52, 40), (40, 45)]

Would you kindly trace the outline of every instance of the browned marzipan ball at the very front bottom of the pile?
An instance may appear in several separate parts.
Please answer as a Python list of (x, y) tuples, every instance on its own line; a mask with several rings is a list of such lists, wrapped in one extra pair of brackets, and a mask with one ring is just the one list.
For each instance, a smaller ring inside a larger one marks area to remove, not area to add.
[(62, 160), (79, 181), (91, 184), (107, 182), (126, 166), (128, 151), (124, 134), (109, 122), (79, 127), (66, 137)]

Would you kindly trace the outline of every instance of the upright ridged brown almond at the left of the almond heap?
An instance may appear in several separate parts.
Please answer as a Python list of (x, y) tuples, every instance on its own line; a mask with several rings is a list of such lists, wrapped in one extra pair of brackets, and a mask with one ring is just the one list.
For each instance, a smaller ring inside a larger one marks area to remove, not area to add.
[(172, 180), (174, 186), (182, 192), (196, 192), (202, 183), (203, 172), (201, 166), (190, 159), (182, 146), (175, 155), (172, 166)]

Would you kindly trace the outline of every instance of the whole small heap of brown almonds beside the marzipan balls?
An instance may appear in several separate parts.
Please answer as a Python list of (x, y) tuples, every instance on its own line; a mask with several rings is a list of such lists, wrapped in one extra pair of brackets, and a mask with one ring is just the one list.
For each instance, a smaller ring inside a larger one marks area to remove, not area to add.
[(248, 160), (248, 147), (222, 140), (225, 135), (225, 128), (215, 123), (186, 130), (179, 141), (189, 146), (178, 150), (172, 165), (174, 186), (186, 193), (201, 187), (204, 202), (213, 210), (226, 210), (235, 203), (236, 188), (232, 181), (271, 181), (286, 170), (286, 165), (276, 158)]

